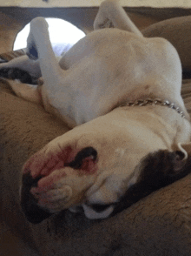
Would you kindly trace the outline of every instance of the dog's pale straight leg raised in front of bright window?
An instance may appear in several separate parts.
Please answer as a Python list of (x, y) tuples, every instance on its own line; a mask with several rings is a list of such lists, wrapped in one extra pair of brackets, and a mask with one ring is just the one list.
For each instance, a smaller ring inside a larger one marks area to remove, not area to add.
[(40, 63), (43, 77), (41, 92), (45, 110), (64, 120), (70, 127), (76, 126), (78, 109), (75, 105), (74, 89), (69, 86), (74, 76), (71, 71), (63, 70), (58, 63), (49, 40), (48, 24), (43, 17), (36, 17), (30, 23), (29, 57), (33, 54), (31, 49)]

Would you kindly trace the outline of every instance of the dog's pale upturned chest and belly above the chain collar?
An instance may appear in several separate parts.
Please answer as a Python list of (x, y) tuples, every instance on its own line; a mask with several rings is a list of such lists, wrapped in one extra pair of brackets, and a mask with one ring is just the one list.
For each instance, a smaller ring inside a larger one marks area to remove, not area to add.
[(62, 85), (58, 83), (54, 94), (47, 93), (49, 104), (73, 126), (106, 114), (124, 100), (169, 95), (183, 106), (181, 64), (175, 55), (173, 46), (161, 38), (97, 30), (61, 59)]

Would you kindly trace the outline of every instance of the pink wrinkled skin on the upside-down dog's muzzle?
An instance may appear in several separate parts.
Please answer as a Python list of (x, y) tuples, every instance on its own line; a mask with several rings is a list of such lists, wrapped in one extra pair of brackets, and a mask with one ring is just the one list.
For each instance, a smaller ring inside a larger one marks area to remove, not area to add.
[(96, 151), (92, 147), (73, 150), (71, 146), (67, 146), (61, 152), (46, 152), (43, 149), (23, 166), (23, 176), (30, 175), (34, 180), (39, 179), (35, 186), (31, 186), (30, 193), (38, 200), (39, 205), (45, 206), (51, 200), (49, 191), (59, 189), (57, 182), (71, 175), (75, 179), (75, 176), (95, 174), (96, 163)]

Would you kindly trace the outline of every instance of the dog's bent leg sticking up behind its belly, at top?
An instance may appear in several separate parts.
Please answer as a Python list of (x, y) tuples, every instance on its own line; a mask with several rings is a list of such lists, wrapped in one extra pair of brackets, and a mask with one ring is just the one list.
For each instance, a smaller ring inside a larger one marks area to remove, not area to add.
[(117, 28), (133, 32), (142, 37), (141, 31), (129, 19), (127, 13), (118, 2), (118, 0), (107, 0), (100, 5), (100, 9), (95, 17), (94, 30)]

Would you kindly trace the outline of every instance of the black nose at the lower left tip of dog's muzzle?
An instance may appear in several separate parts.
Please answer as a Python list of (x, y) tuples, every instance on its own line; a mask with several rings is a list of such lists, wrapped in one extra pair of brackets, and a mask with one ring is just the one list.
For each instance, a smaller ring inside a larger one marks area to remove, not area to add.
[(31, 223), (37, 224), (43, 221), (43, 219), (49, 218), (52, 215), (49, 212), (44, 211), (37, 205), (37, 200), (30, 193), (31, 187), (35, 187), (40, 178), (33, 179), (30, 173), (23, 174), (23, 186), (21, 191), (21, 206), (22, 210)]

